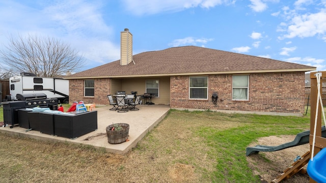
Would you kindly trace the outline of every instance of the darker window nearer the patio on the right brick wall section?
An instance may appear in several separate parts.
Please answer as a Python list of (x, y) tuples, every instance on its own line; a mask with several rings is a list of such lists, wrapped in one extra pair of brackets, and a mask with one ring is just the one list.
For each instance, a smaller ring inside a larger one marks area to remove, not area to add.
[(189, 77), (189, 98), (208, 99), (208, 77)]

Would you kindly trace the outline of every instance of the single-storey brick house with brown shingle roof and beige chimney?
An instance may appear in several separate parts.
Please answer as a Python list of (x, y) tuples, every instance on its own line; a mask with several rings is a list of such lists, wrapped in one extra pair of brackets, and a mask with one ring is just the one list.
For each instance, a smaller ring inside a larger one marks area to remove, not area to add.
[[(107, 95), (155, 95), (178, 109), (304, 113), (305, 72), (315, 67), (197, 46), (132, 55), (132, 35), (121, 32), (121, 59), (70, 76), (69, 99), (109, 104)], [(216, 104), (212, 94), (218, 94)]]

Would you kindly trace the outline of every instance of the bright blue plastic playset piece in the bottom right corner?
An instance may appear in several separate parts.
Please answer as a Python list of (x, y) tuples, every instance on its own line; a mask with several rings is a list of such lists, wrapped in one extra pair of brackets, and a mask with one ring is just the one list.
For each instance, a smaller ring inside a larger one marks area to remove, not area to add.
[(309, 160), (307, 171), (309, 176), (318, 183), (326, 183), (326, 148), (323, 148)]

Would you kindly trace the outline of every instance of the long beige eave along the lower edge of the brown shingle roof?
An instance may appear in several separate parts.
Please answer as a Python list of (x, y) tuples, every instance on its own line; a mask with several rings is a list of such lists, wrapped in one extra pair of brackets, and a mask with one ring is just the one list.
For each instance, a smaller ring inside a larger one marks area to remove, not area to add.
[(309, 72), (317, 68), (303, 69), (280, 69), (280, 70), (249, 70), (249, 71), (218, 71), (218, 72), (194, 72), (194, 73), (165, 73), (165, 74), (135, 74), (135, 75), (118, 75), (118, 76), (81, 76), (68, 77), (64, 79), (100, 79), (100, 78), (130, 78), (130, 77), (162, 77), (162, 76), (187, 76), (187, 75), (213, 75), (213, 74), (250, 74), (250, 73), (275, 73), (275, 72)]

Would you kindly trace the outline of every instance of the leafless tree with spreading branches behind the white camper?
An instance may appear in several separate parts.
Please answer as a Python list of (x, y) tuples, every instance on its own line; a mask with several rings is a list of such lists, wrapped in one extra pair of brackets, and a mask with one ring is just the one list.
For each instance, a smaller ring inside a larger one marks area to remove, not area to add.
[(3, 63), (15, 73), (30, 72), (43, 77), (60, 77), (76, 72), (85, 61), (69, 45), (50, 37), (13, 36), (9, 45), (0, 50)]

